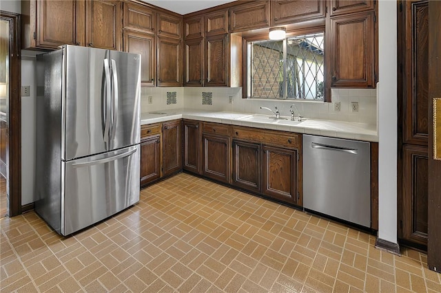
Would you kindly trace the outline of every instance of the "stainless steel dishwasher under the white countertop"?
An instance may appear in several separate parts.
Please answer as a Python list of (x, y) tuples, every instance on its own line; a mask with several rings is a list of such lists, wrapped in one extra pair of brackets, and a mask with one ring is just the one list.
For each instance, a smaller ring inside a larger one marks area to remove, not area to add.
[(369, 142), (303, 135), (303, 207), (371, 226)]

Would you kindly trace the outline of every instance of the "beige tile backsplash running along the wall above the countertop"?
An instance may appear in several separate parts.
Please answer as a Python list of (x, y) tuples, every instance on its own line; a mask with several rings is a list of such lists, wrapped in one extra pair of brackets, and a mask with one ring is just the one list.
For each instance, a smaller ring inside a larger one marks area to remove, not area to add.
[[(167, 91), (176, 91), (176, 104), (167, 105)], [(213, 105), (203, 105), (202, 93), (212, 92)], [(294, 101), (300, 115), (311, 119), (325, 119), (367, 124), (377, 123), (376, 89), (332, 89), (332, 102)], [(152, 104), (148, 97), (152, 97)], [(232, 97), (232, 104), (229, 97)], [(209, 111), (234, 111), (271, 114), (260, 106), (278, 107), (280, 116), (289, 116), (292, 100), (243, 99), (241, 87), (143, 87), (141, 111), (165, 109), (206, 109)], [(334, 111), (334, 102), (340, 102), (340, 111)], [(358, 102), (358, 112), (351, 111), (351, 102)], [(295, 113), (298, 116), (298, 113)]]

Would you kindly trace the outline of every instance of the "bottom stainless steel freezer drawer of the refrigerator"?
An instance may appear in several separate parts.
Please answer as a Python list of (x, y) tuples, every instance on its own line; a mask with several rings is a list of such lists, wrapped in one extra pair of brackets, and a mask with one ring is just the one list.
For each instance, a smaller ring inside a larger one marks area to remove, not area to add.
[(139, 202), (139, 144), (63, 162), (61, 234), (88, 227)]

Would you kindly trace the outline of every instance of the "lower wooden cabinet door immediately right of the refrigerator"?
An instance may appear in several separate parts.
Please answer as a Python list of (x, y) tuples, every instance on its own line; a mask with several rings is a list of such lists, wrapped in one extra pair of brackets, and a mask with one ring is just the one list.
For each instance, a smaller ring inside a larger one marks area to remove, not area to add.
[(161, 136), (152, 135), (141, 140), (141, 186), (161, 177)]

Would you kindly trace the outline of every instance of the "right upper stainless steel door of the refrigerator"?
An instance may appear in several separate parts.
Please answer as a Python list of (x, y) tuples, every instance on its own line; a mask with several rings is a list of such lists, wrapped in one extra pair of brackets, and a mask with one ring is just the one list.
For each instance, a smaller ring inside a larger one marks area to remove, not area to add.
[(110, 149), (141, 141), (141, 56), (110, 51), (112, 122)]

